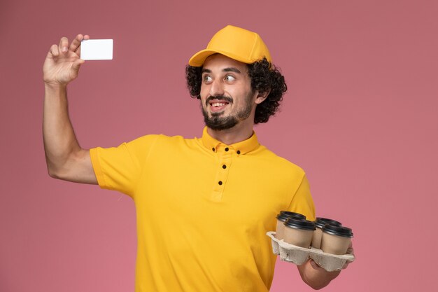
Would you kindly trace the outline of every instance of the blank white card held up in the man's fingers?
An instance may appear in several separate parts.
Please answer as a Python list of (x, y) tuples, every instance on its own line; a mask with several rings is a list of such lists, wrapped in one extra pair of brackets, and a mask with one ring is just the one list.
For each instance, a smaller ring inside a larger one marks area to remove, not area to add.
[(87, 39), (80, 42), (80, 59), (113, 60), (112, 39)]

